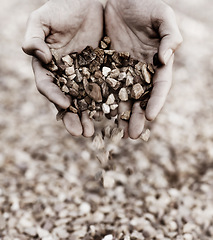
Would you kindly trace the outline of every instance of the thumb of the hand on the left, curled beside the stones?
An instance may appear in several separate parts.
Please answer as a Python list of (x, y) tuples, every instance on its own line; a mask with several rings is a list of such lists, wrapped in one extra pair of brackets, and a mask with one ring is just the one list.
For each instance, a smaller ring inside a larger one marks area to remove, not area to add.
[(24, 43), (22, 49), (25, 53), (37, 57), (44, 63), (49, 63), (52, 55), (49, 47), (45, 43), (45, 37), (49, 34), (49, 29), (41, 23), (39, 10), (34, 11), (27, 23)]

